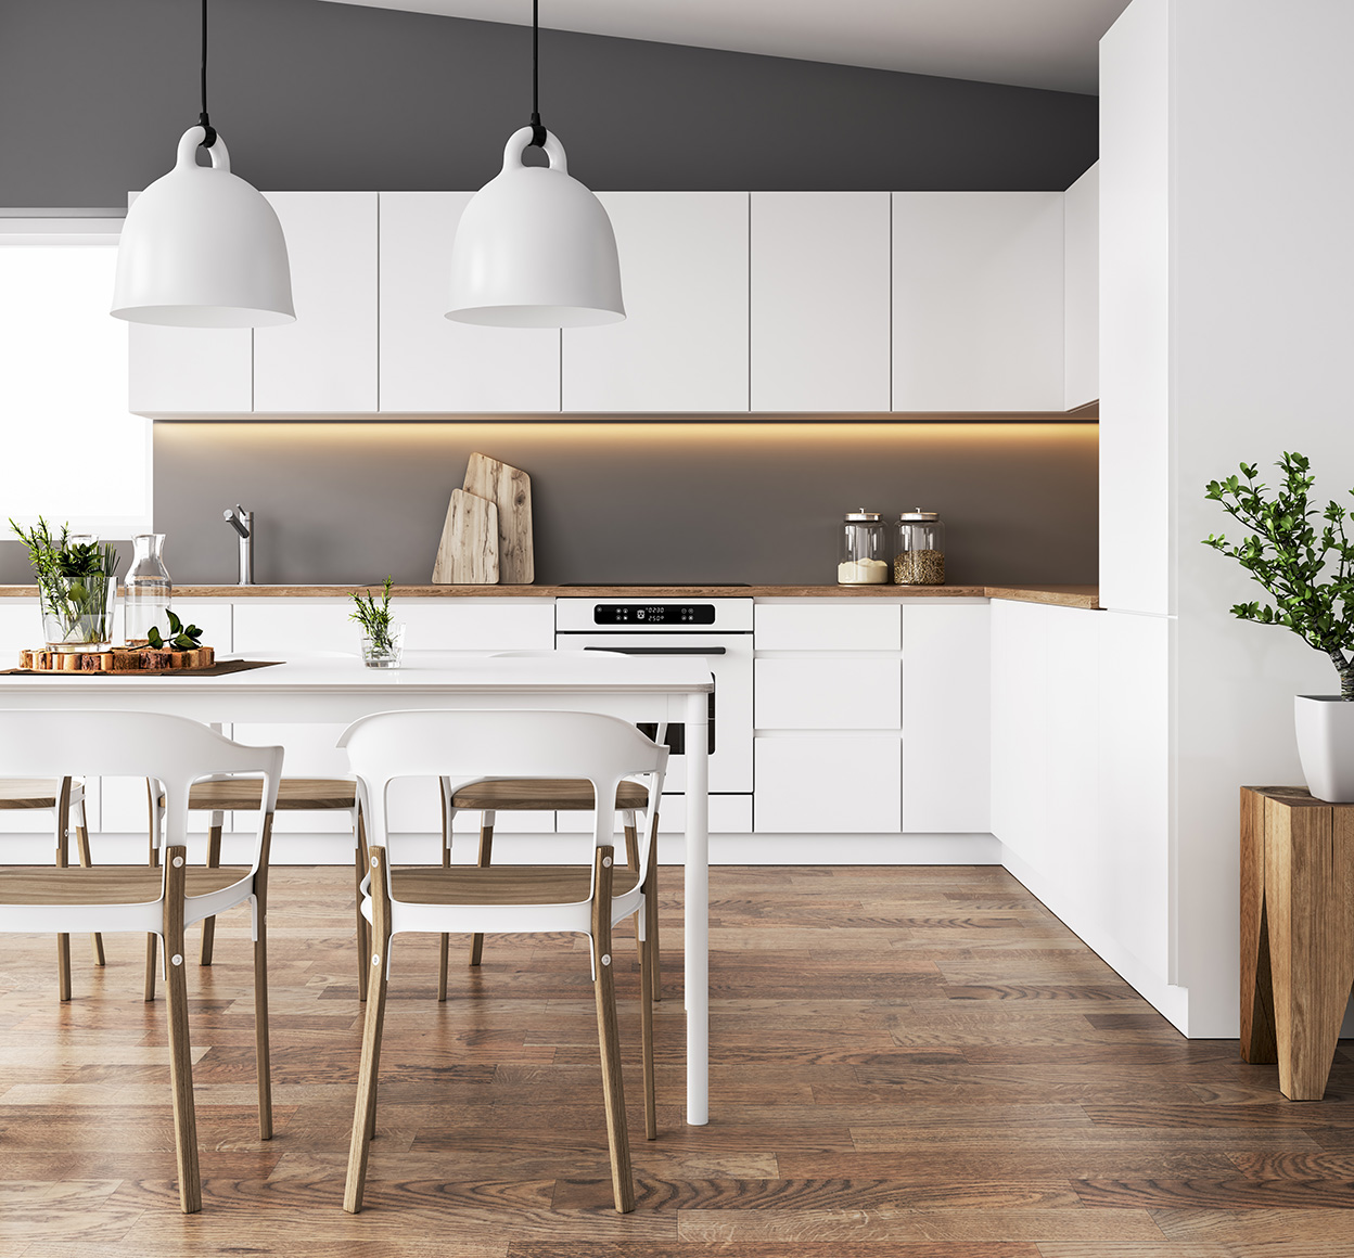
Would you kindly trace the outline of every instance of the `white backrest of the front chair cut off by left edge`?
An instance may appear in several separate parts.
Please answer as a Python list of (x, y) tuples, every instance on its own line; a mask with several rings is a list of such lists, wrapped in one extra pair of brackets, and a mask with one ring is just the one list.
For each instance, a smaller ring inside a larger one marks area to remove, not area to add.
[(0, 775), (5, 777), (150, 777), (165, 792), (165, 845), (188, 833), (188, 791), (219, 773), (264, 780), (255, 863), (264, 817), (278, 806), (282, 747), (250, 747), (162, 712), (0, 711)]

